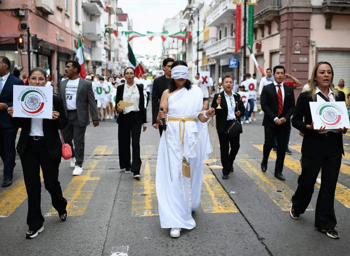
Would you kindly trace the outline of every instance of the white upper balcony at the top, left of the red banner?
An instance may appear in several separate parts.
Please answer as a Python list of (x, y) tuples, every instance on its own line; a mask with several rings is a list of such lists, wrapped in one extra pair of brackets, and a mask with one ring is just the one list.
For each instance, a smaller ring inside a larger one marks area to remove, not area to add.
[(229, 23), (232, 20), (233, 14), (236, 12), (236, 5), (232, 1), (227, 0), (213, 1), (209, 8), (205, 17), (207, 27), (217, 27), (221, 23)]

